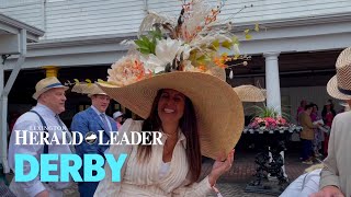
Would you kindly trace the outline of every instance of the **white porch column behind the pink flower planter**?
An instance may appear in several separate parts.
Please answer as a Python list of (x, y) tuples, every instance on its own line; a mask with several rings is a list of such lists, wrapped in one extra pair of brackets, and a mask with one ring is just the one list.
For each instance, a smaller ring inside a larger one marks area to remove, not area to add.
[(278, 56), (280, 53), (267, 53), (265, 57), (265, 89), (267, 106), (274, 108), (279, 115), (282, 115), (281, 106), (281, 85), (279, 79)]

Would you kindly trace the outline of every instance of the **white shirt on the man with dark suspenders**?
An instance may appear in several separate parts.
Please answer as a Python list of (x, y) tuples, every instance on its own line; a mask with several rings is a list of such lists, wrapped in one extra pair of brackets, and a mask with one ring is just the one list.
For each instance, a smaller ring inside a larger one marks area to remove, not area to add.
[[(63, 130), (60, 129), (60, 126), (55, 117), (55, 113), (49, 109), (47, 106), (43, 104), (37, 104), (35, 107), (32, 108), (32, 111), (37, 112), (44, 119), (47, 126), (47, 130), (49, 132), (48, 141), (50, 141), (52, 136), (54, 132), (56, 132), (58, 140), (63, 141)], [(64, 124), (64, 123), (61, 123)], [(66, 125), (64, 124), (64, 127)], [(43, 124), (39, 119), (39, 117), (34, 113), (25, 113), (23, 114), (14, 124), (13, 131), (10, 138), (10, 147), (9, 147), (9, 165), (10, 167), (15, 172), (14, 170), (14, 154), (31, 154), (36, 158), (36, 160), (41, 161), (41, 154), (44, 152), (44, 146), (43, 144), (14, 144), (15, 143), (15, 130), (37, 130), (43, 128)], [(64, 130), (68, 131), (67, 127), (64, 128)], [(43, 131), (44, 130), (37, 130)], [(29, 135), (27, 135), (29, 136)], [(29, 138), (27, 138), (29, 143)], [(68, 144), (48, 144), (48, 153), (50, 154), (70, 154), (71, 150)], [(60, 177), (60, 165), (59, 160), (57, 162), (52, 162), (53, 164), (57, 164), (58, 171), (52, 171), (52, 175), (58, 175)], [(26, 174), (30, 172), (31, 165), (27, 164), (27, 162), (24, 163), (24, 173)], [(11, 185), (14, 184), (15, 188), (20, 188), (20, 194), (24, 194), (24, 196), (35, 196), (38, 193), (43, 192), (45, 188), (45, 185), (39, 181), (39, 176), (35, 177), (35, 179), (31, 182), (14, 182), (12, 181)], [(49, 187), (53, 187), (55, 189), (64, 189), (69, 187), (71, 183), (70, 182), (54, 182), (49, 183)], [(55, 196), (55, 195), (52, 195)]]

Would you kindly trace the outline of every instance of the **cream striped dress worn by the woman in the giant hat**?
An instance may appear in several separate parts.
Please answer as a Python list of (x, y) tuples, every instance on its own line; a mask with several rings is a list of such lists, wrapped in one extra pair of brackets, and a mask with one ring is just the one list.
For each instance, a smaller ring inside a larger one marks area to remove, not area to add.
[[(126, 120), (120, 132), (140, 131), (143, 121)], [(118, 136), (122, 136), (121, 134)], [(165, 144), (167, 139), (162, 135)], [(95, 197), (105, 196), (149, 196), (149, 197), (174, 197), (174, 196), (206, 196), (212, 187), (208, 177), (200, 183), (189, 185), (189, 163), (185, 154), (186, 139), (179, 130), (178, 142), (174, 147), (169, 169), (165, 176), (160, 177), (162, 165), (163, 146), (152, 146), (150, 160), (145, 163), (137, 161), (137, 146), (111, 146), (110, 153), (117, 158), (122, 152), (128, 158), (121, 172), (121, 183), (111, 182), (111, 169), (105, 165), (105, 178), (100, 182)]]

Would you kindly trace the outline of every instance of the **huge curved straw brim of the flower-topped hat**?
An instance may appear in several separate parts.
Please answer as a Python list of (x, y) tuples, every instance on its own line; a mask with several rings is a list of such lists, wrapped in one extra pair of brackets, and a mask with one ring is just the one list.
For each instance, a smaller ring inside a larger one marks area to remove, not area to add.
[(173, 89), (193, 103), (202, 154), (225, 159), (238, 142), (244, 129), (244, 108), (231, 86), (220, 79), (201, 72), (170, 72), (118, 88), (98, 83), (121, 105), (143, 118), (150, 114), (160, 89)]

